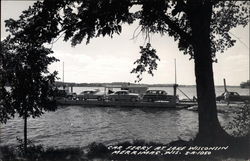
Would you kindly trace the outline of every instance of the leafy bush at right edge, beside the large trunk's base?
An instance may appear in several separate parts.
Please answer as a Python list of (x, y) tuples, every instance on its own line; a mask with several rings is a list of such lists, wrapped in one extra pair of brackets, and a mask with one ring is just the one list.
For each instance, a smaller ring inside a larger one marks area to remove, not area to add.
[(240, 106), (226, 128), (236, 137), (250, 136), (250, 104)]

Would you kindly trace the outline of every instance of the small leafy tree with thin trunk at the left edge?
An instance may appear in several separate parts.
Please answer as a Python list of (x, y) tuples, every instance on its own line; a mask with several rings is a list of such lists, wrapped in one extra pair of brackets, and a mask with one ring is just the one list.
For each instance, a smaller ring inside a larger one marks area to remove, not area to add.
[[(14, 32), (11, 32), (15, 36)], [(25, 36), (25, 35), (23, 35)], [(52, 51), (36, 42), (25, 42), (10, 36), (1, 42), (1, 123), (14, 117), (24, 119), (24, 153), (27, 151), (27, 118), (39, 117), (56, 109), (53, 84), (56, 72), (47, 67), (56, 61)], [(5, 85), (10, 86), (7, 91)]]

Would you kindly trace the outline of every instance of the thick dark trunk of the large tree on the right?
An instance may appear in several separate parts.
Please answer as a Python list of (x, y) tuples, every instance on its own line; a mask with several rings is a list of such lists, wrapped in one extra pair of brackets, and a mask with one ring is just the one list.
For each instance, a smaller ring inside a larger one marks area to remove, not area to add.
[(206, 145), (226, 144), (229, 135), (220, 126), (216, 108), (210, 43), (212, 5), (209, 2), (197, 1), (189, 5), (199, 112), (199, 132), (196, 142)]

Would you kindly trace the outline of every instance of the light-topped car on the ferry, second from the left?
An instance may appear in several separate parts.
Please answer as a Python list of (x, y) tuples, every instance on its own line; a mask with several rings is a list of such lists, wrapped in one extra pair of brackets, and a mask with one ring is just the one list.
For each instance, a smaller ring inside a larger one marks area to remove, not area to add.
[(104, 100), (104, 92), (99, 90), (83, 91), (77, 95), (79, 100), (97, 99), (98, 101)]

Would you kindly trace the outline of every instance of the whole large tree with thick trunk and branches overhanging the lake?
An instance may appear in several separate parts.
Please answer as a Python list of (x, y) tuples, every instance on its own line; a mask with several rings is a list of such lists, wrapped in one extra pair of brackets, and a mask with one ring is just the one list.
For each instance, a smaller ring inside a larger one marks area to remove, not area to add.
[[(132, 12), (135, 5), (140, 8)], [(89, 43), (94, 37), (120, 34), (122, 24), (136, 20), (146, 39), (149, 33), (173, 37), (179, 50), (195, 62), (199, 107), (196, 140), (215, 144), (230, 137), (217, 118), (212, 64), (216, 52), (234, 45), (229, 31), (248, 24), (248, 5), (247, 1), (218, 0), (44, 0), (24, 11), (19, 20), (9, 20), (7, 26), (27, 35), (27, 41), (40, 44), (51, 43), (62, 35), (65, 41), (71, 40), (72, 46), (84, 38)], [(26, 26), (20, 28), (20, 24)], [(141, 53), (134, 72), (152, 73), (157, 67), (155, 50), (149, 44), (141, 48)]]

